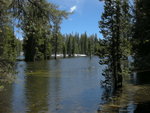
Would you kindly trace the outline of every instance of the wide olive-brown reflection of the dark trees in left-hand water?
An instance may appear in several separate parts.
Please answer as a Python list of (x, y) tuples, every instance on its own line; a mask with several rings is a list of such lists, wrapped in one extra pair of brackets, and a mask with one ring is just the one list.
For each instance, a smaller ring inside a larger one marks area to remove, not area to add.
[[(40, 66), (47, 67), (43, 62)], [(32, 65), (32, 69), (39, 71), (37, 65)], [(42, 68), (43, 70), (43, 68)], [(47, 112), (48, 111), (48, 91), (49, 78), (43, 76), (45, 73), (37, 75), (30, 75), (26, 77), (25, 95), (27, 98), (27, 111), (31, 113)]]

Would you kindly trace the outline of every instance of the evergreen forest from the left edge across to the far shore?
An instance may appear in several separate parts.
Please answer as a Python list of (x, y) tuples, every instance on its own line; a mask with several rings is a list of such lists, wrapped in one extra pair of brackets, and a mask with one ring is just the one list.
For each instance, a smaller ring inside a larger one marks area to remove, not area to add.
[[(48, 60), (51, 54), (55, 54), (55, 59), (57, 54), (64, 57), (66, 54), (70, 57), (74, 54), (98, 54), (99, 39), (96, 34), (61, 34), (60, 24), (71, 13), (59, 10), (58, 6), (45, 0), (1, 0), (0, 5), (1, 85), (12, 79), (7, 75), (21, 51), (24, 51), (25, 61), (31, 62)], [(15, 28), (23, 31), (23, 41), (15, 36)]]

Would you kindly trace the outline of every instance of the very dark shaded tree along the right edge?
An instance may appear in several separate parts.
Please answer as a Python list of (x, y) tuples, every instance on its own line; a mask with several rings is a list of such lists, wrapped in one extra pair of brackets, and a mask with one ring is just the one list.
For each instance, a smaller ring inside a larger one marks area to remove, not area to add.
[(150, 1), (135, 0), (133, 34), (134, 66), (136, 70), (150, 67)]

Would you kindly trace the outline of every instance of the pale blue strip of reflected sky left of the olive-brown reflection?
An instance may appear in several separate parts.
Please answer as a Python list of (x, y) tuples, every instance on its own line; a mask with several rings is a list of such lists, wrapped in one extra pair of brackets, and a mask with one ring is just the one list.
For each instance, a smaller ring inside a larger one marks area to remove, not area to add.
[[(12, 107), (13, 112), (25, 112), (26, 109), (26, 95), (25, 95), (25, 69), (26, 69), (26, 63), (23, 61), (17, 62), (16, 65), (16, 81), (12, 85)], [(16, 110), (16, 107), (18, 108)]]

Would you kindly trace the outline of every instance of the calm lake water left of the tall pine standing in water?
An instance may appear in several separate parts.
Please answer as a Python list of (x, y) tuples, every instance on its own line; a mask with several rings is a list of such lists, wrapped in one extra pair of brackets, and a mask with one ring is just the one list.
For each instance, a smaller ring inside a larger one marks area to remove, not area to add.
[(17, 80), (0, 95), (0, 113), (95, 113), (103, 89), (98, 57), (17, 62)]

